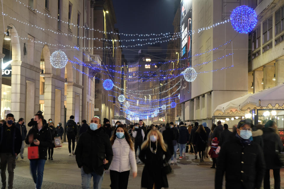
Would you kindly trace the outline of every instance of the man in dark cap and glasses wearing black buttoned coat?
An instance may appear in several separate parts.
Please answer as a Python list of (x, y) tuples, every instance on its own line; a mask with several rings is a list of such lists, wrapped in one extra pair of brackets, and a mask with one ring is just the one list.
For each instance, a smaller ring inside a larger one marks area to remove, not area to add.
[(252, 141), (252, 126), (250, 119), (241, 120), (232, 139), (222, 145), (217, 159), (215, 189), (222, 188), (224, 172), (226, 188), (260, 188), (265, 162), (261, 147)]

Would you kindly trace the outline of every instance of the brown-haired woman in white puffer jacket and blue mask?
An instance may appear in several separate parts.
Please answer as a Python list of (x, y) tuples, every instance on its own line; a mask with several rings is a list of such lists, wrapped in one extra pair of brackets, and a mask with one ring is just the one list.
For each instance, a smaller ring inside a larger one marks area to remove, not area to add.
[(134, 152), (134, 145), (124, 125), (118, 125), (112, 137), (113, 157), (109, 167), (109, 174), (112, 189), (127, 189), (130, 174), (130, 164), (133, 178), (137, 176), (137, 164)]

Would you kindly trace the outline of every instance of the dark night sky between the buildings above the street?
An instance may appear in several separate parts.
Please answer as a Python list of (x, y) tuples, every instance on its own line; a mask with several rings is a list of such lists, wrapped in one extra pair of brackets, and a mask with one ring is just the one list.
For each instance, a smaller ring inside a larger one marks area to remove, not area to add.
[[(115, 27), (120, 33), (151, 34), (173, 32), (173, 19), (175, 12), (180, 6), (180, 0), (113, 0), (114, 11), (117, 23)], [(138, 36), (120, 36), (120, 39), (137, 39)], [(154, 38), (154, 36), (147, 37)], [(140, 42), (122, 42), (122, 45), (134, 45)], [(161, 44), (161, 43), (160, 43)], [(167, 43), (161, 44), (163, 49)], [(125, 58), (132, 62), (139, 49), (146, 49), (147, 45), (128, 48), (123, 50)], [(132, 51), (135, 50), (135, 51)]]

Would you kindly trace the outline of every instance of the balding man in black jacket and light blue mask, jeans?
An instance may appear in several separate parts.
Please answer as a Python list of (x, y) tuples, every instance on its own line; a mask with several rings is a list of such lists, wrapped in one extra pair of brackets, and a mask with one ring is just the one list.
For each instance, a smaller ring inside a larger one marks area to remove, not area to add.
[(104, 170), (109, 168), (113, 153), (109, 136), (101, 128), (98, 117), (92, 118), (90, 127), (80, 135), (75, 155), (81, 169), (82, 188), (90, 188), (92, 177), (93, 188), (101, 188)]

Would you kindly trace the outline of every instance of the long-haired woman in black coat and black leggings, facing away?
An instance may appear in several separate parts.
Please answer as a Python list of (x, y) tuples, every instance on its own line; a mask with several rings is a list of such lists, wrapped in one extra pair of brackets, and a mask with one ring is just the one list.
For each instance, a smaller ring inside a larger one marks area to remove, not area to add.
[(204, 150), (206, 149), (206, 144), (207, 144), (206, 131), (203, 125), (200, 125), (196, 130), (193, 139), (193, 145), (196, 146), (196, 150), (199, 153), (200, 162), (204, 162), (203, 157), (204, 157)]

